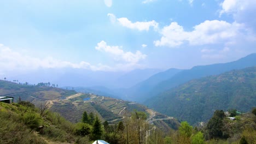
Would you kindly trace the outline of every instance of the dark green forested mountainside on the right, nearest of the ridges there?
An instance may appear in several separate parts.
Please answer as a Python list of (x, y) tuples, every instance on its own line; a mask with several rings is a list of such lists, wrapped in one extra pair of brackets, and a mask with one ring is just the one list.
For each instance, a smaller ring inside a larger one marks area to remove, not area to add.
[(191, 124), (207, 121), (217, 109), (250, 111), (256, 106), (256, 67), (191, 80), (146, 104)]

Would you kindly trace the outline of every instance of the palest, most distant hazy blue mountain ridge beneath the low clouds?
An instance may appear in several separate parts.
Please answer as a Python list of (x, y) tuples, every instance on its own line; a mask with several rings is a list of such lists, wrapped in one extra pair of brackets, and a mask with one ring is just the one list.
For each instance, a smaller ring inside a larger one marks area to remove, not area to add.
[(127, 88), (160, 72), (159, 69), (136, 69), (132, 71), (92, 71), (86, 69), (49, 68), (31, 70), (27, 73), (9, 73), (7, 80), (28, 83), (52, 82), (59, 86)]

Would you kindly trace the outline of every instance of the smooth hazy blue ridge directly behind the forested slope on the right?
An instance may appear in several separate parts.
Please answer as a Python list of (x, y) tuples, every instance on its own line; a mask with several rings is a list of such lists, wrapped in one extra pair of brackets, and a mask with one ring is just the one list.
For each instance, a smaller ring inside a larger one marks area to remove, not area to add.
[(181, 85), (182, 83), (188, 82), (189, 80), (198, 79), (200, 77), (209, 75), (217, 75), (229, 70), (243, 69), (253, 66), (256, 66), (256, 53), (238, 59), (234, 62), (196, 66), (192, 69), (183, 70), (177, 73), (171, 77), (171, 79), (160, 82), (152, 89), (152, 91), (148, 93), (148, 95), (152, 97), (153, 95), (167, 91), (168, 89)]

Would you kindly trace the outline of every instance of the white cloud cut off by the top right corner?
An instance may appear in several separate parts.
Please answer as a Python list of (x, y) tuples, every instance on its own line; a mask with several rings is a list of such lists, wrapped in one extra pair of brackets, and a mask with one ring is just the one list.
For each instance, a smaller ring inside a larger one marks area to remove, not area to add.
[(224, 0), (220, 5), (220, 16), (231, 14), (236, 22), (245, 23), (256, 30), (256, 20), (252, 17), (256, 14), (255, 0)]

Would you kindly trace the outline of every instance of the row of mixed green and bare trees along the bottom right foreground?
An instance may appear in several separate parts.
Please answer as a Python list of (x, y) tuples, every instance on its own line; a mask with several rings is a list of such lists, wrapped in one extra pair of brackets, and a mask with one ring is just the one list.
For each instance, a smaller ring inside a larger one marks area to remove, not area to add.
[[(236, 111), (236, 110), (230, 110)], [(256, 116), (256, 109), (252, 110)], [(236, 121), (226, 118), (223, 110), (216, 110), (207, 125), (203, 128), (193, 128), (188, 122), (181, 122), (178, 130), (164, 134), (146, 122), (147, 116), (144, 112), (132, 112), (131, 117), (125, 116), (118, 124), (108, 124), (107, 121), (101, 125), (98, 117), (84, 112), (82, 121), (84, 126), (83, 135), (89, 135), (91, 140), (103, 139), (109, 143), (255, 143), (256, 142), (256, 117), (248, 113), (236, 116)], [(234, 114), (234, 113), (233, 113)], [(92, 123), (94, 119), (94, 123)], [(248, 120), (249, 119), (249, 120)], [(249, 127), (248, 127), (249, 125)], [(81, 127), (82, 125), (80, 125)]]

